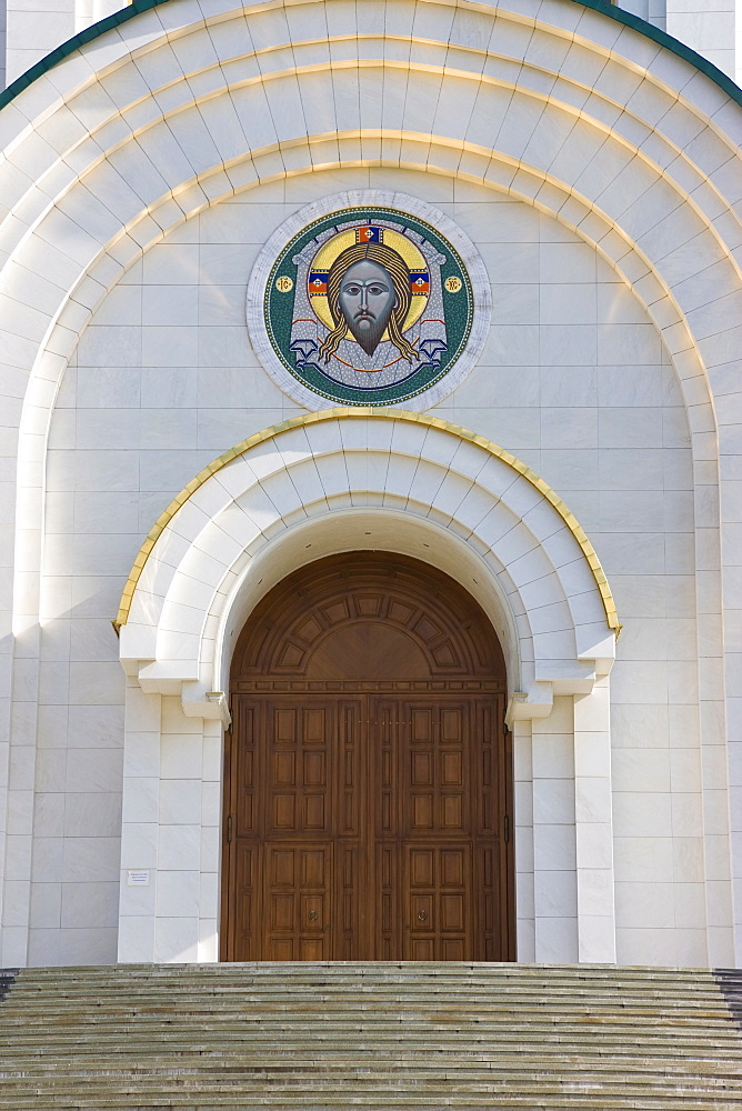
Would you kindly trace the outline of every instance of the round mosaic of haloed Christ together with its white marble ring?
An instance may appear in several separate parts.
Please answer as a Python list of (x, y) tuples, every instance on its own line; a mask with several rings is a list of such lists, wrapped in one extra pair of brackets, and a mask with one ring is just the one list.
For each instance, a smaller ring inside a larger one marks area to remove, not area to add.
[(399, 193), (308, 206), (271, 237), (248, 287), (261, 362), (310, 409), (434, 404), (474, 366), (489, 318), (472, 243)]

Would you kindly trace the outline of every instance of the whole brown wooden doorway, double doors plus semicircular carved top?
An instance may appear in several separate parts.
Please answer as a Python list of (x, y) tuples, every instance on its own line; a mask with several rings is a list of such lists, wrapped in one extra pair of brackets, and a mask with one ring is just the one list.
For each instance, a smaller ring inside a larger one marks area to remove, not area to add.
[(223, 960), (514, 958), (505, 669), (427, 563), (332, 556), (239, 638)]

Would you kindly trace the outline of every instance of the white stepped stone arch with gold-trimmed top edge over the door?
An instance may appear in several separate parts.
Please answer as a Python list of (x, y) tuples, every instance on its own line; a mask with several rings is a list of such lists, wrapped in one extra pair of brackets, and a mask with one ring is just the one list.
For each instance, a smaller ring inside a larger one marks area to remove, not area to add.
[(323, 542), (333, 550), (340, 522), (334, 550), (394, 550), (380, 536), (381, 510), (387, 528), (395, 519), (397, 543), (408, 553), (423, 533), (445, 537), (437, 558), (470, 589), (471, 578), (508, 645), (511, 689), (528, 693), (531, 712), (548, 713), (554, 690), (589, 692), (595, 674), (610, 670), (615, 607), (566, 507), (482, 438), (383, 410), (287, 421), (232, 449), (182, 491), (124, 590), (118, 621), (126, 669), (150, 693), (181, 693), (187, 713), (218, 715), (207, 694), (224, 689), (234, 614), (241, 622), (277, 575), (315, 559), (318, 547), (322, 554)]

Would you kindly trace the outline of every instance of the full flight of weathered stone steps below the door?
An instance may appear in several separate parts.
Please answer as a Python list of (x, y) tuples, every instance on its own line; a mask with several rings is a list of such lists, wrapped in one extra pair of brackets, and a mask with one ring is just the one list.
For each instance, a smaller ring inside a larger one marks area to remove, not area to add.
[(742, 1108), (734, 970), (121, 965), (3, 984), (0, 1111)]

